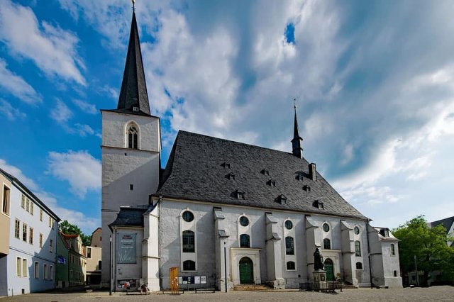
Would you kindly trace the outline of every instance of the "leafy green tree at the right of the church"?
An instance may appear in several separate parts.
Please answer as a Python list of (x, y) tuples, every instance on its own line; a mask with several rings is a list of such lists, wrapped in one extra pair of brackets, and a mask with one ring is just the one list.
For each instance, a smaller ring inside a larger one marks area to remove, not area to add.
[(454, 248), (448, 247), (443, 225), (430, 228), (424, 216), (413, 218), (392, 230), (399, 242), (399, 260), (404, 272), (415, 270), (415, 257), (419, 271), (424, 272), (423, 285), (427, 285), (429, 272), (440, 271), (443, 279), (454, 275)]

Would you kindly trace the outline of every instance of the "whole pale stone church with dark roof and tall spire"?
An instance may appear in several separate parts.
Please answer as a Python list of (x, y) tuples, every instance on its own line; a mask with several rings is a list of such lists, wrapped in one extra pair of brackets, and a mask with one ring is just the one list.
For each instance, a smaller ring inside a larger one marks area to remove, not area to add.
[(179, 130), (161, 168), (134, 12), (118, 106), (101, 114), (103, 286), (297, 288), (319, 249), (328, 281), (402, 287), (399, 240), (303, 157), (296, 107), (292, 152)]

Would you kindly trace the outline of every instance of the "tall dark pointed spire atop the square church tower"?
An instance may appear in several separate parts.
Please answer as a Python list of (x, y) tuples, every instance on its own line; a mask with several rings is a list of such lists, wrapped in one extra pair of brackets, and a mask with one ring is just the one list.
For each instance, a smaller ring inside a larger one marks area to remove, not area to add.
[(126, 65), (123, 73), (123, 82), (121, 82), (117, 109), (131, 111), (131, 113), (150, 114), (150, 104), (148, 103), (147, 85), (145, 82), (145, 72), (143, 72), (142, 52), (140, 52), (140, 40), (137, 21), (135, 21), (134, 7), (131, 33), (129, 35), (128, 55), (126, 55)]

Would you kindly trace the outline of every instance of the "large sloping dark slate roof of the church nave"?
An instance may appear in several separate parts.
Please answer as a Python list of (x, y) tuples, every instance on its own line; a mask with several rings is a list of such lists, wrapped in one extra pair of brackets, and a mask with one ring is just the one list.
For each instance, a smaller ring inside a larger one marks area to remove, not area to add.
[[(318, 172), (316, 181), (309, 179), (308, 166), (289, 152), (180, 130), (155, 196), (366, 219)], [(235, 177), (229, 179), (229, 173)], [(270, 179), (275, 186), (267, 184)], [(244, 200), (236, 198), (237, 190), (245, 192)], [(277, 202), (281, 194), (287, 204)], [(313, 206), (316, 200), (324, 209)]]

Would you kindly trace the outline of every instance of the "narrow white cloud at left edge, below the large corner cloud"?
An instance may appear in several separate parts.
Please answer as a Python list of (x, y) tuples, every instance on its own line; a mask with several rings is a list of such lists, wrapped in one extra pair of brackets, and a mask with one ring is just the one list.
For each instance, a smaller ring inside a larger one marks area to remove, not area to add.
[(0, 58), (0, 87), (28, 104), (40, 103), (43, 99), (23, 78), (6, 68), (6, 62), (2, 58)]

